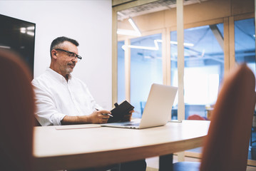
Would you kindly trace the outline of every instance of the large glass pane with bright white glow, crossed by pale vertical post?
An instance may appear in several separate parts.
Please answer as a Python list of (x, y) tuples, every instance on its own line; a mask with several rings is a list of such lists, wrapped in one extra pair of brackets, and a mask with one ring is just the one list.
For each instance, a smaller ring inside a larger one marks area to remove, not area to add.
[[(178, 86), (177, 44), (172, 43), (177, 41), (176, 31), (170, 33), (170, 40), (171, 85)], [(184, 61), (185, 119), (193, 115), (210, 119), (207, 111), (217, 100), (224, 74), (223, 24), (185, 29)], [(177, 119), (177, 107), (172, 118)]]

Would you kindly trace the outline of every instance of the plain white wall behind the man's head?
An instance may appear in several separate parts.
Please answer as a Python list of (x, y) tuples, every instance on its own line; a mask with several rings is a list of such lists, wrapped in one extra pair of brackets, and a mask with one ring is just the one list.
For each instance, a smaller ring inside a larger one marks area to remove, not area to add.
[(0, 14), (36, 24), (35, 77), (50, 65), (54, 38), (76, 39), (83, 60), (73, 76), (88, 85), (99, 105), (111, 109), (111, 0), (0, 1)]

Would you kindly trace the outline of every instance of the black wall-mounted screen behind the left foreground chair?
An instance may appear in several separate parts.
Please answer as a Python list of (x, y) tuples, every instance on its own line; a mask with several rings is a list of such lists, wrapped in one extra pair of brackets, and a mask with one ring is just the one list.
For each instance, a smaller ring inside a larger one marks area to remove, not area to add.
[(21, 56), (34, 77), (34, 47), (36, 24), (0, 14), (0, 48), (7, 48)]

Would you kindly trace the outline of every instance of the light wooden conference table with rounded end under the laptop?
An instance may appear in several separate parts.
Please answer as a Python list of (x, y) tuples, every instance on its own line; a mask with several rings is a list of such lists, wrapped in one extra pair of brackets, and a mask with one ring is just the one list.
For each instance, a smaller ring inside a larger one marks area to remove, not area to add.
[(68, 170), (169, 155), (200, 147), (209, 125), (205, 120), (183, 120), (142, 130), (36, 127), (34, 164), (36, 170)]

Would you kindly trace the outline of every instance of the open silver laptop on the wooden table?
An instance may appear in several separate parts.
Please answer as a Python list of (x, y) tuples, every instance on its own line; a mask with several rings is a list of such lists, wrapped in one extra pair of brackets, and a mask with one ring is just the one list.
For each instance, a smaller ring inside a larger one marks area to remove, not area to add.
[(172, 111), (178, 88), (155, 84), (151, 86), (140, 123), (106, 123), (101, 126), (116, 128), (150, 128), (165, 125)]

